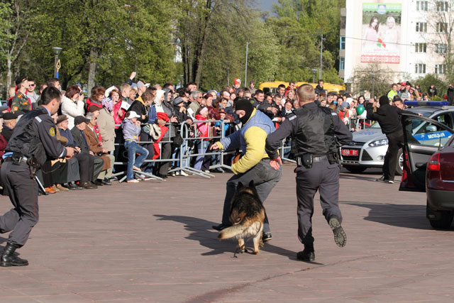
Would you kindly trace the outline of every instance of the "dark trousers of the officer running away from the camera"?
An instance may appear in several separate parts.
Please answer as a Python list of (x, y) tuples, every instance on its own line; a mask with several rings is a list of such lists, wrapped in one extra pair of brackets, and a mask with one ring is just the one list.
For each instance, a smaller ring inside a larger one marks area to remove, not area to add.
[(303, 244), (314, 243), (312, 236), (312, 215), (314, 215), (314, 196), (320, 192), (320, 204), (323, 216), (329, 221), (337, 216), (342, 221), (339, 209), (339, 165), (329, 164), (328, 160), (314, 162), (311, 168), (298, 166), (297, 200), (298, 200), (298, 238)]

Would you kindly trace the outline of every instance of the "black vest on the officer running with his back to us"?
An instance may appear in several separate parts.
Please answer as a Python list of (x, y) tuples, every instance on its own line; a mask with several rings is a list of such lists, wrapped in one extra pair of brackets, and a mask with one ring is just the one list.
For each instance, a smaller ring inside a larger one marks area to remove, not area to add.
[(331, 109), (301, 107), (294, 111), (298, 119), (298, 131), (292, 138), (292, 153), (303, 155), (328, 155), (337, 153), (334, 138), (334, 122)]

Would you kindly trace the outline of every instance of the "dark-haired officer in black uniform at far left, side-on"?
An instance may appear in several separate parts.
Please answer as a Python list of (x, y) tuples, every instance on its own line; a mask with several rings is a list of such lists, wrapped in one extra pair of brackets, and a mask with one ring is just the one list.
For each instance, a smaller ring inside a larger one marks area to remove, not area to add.
[(9, 234), (0, 256), (0, 266), (24, 266), (28, 261), (14, 255), (27, 241), (38, 223), (38, 184), (36, 170), (48, 158), (70, 159), (74, 148), (65, 148), (55, 137), (55, 123), (50, 116), (60, 106), (60, 91), (48, 87), (41, 94), (42, 105), (24, 114), (6, 146), (1, 182), (14, 208), (0, 216), (0, 233)]

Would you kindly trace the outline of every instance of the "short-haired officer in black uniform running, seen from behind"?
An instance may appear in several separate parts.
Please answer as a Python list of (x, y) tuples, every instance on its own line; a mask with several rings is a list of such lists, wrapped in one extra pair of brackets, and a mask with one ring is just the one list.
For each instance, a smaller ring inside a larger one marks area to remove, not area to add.
[(298, 89), (301, 108), (290, 114), (274, 133), (267, 137), (265, 150), (275, 169), (282, 165), (277, 148), (284, 138), (292, 135), (292, 152), (297, 156), (298, 238), (304, 250), (297, 253), (303, 261), (314, 261), (312, 215), (314, 196), (320, 191), (323, 216), (334, 233), (334, 241), (345, 246), (347, 236), (341, 226), (342, 214), (338, 205), (339, 164), (338, 146), (352, 141), (352, 134), (339, 116), (314, 103), (314, 87), (301, 85)]

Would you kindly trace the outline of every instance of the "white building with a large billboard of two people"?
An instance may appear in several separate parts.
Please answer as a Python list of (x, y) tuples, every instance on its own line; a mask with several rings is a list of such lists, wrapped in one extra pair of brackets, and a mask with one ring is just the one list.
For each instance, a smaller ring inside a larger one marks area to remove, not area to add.
[(348, 83), (356, 69), (377, 65), (389, 72), (389, 82), (443, 78), (453, 2), (346, 0), (339, 75)]

